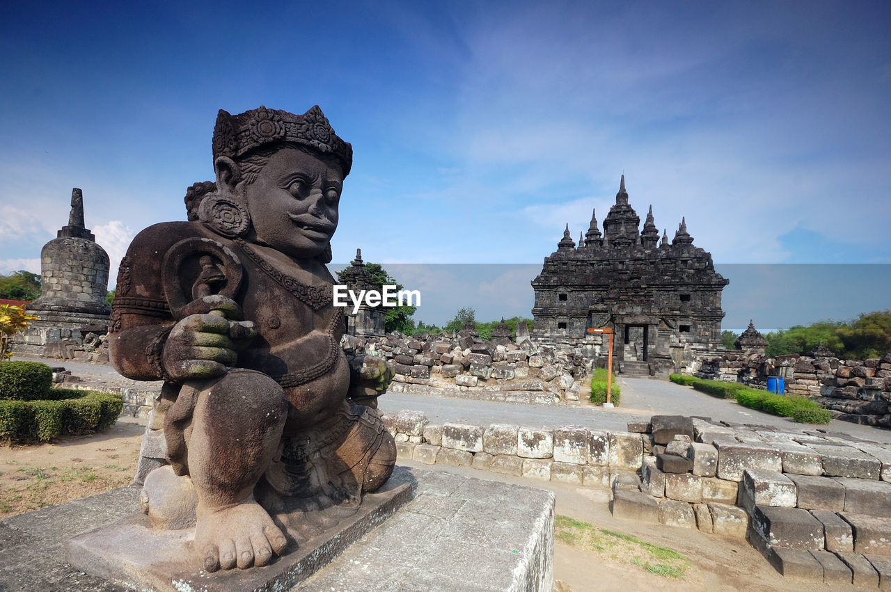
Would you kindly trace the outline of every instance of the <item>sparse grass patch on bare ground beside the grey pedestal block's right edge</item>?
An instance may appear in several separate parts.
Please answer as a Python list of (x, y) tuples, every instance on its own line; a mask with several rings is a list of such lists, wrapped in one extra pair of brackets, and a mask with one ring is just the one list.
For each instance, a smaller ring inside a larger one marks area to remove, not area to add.
[(621, 532), (596, 528), (569, 516), (557, 515), (554, 531), (556, 538), (567, 545), (635, 565), (663, 578), (683, 579), (690, 568), (690, 561), (670, 548), (658, 547)]

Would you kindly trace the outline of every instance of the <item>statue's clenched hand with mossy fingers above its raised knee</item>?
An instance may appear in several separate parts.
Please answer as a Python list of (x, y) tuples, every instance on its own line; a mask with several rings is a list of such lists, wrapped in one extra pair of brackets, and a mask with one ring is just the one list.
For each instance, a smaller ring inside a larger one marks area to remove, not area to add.
[(190, 314), (171, 329), (162, 363), (168, 377), (175, 380), (215, 378), (235, 363), (235, 350), (225, 316)]

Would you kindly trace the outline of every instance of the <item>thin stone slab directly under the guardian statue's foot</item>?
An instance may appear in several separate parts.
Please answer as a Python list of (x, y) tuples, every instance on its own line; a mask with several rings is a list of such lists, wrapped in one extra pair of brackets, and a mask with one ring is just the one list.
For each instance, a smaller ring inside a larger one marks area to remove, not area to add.
[(137, 589), (229, 591), (286, 590), (297, 586), (385, 521), (412, 498), (412, 486), (390, 479), (380, 491), (364, 496), (356, 515), (289, 547), (272, 564), (248, 570), (206, 572), (192, 548), (194, 529), (152, 529), (143, 514), (86, 531), (69, 540), (66, 559), (75, 569)]

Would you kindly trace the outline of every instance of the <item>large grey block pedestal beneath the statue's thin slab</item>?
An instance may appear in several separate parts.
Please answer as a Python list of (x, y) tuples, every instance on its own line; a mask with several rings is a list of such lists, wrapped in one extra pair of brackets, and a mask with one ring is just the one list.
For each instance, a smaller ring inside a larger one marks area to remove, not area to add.
[[(305, 553), (303, 559), (291, 553), (258, 572), (284, 572), (286, 564), (294, 570), (303, 561), (305, 571), (296, 574), (293, 583), (279, 580), (274, 587), (258, 581), (242, 586), (238, 579), (249, 572), (236, 571), (226, 589), (551, 590), (554, 497), (550, 491), (402, 466), (396, 467), (391, 481), (390, 491), (398, 489), (399, 483), (410, 483), (413, 499), (382, 523), (367, 521), (364, 536), (356, 542), (349, 540), (351, 547), (342, 545), (341, 555), (331, 554), (327, 567), (321, 567), (321, 552), (319, 556)], [(122, 579), (100, 579), (87, 571), (90, 566), (77, 565), (86, 561), (84, 555), (98, 560), (110, 549), (125, 559), (129, 556), (127, 561), (141, 556), (147, 563), (151, 544), (125, 543), (115, 535), (104, 542), (94, 541), (93, 550), (87, 552), (84, 535), (66, 541), (102, 525), (107, 532), (109, 523), (132, 512), (137, 493), (134, 488), (109, 491), (0, 521), (0, 589), (128, 589)], [(328, 547), (337, 547), (350, 537), (332, 537)], [(69, 558), (63, 546), (68, 547)], [(81, 560), (71, 555), (72, 547), (80, 547), (73, 555), (81, 555)], [(67, 563), (72, 560), (75, 566)], [(320, 567), (314, 575), (312, 570)], [(211, 578), (205, 574), (179, 588), (172, 580), (157, 587), (131, 583), (129, 589), (214, 589)]]

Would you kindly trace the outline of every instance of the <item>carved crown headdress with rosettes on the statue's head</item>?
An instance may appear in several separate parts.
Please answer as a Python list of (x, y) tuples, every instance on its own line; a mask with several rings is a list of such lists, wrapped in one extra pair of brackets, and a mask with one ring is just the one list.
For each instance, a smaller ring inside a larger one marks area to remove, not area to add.
[(353, 166), (353, 147), (341, 140), (322, 109), (315, 105), (303, 115), (260, 106), (230, 115), (223, 109), (214, 126), (214, 159), (226, 156), (239, 158), (252, 150), (275, 142), (303, 144), (325, 155), (339, 159), (344, 175)]

